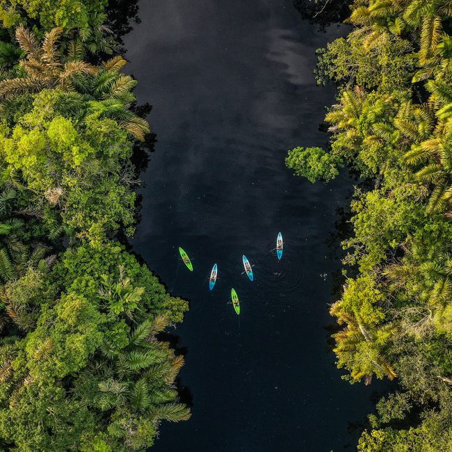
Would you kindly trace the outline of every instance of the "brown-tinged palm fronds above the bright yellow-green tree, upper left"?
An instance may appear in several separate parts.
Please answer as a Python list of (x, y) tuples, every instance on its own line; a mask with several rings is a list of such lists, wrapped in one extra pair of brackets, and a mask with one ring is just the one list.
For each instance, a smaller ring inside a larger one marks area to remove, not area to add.
[(62, 32), (60, 28), (52, 29), (39, 45), (31, 31), (23, 25), (17, 27), (16, 38), (25, 56), (19, 62), (23, 74), (0, 81), (3, 104), (17, 95), (45, 88), (58, 89), (67, 95), (68, 112), (78, 115), (81, 121), (90, 114), (112, 118), (131, 136), (143, 141), (150, 129), (143, 118), (130, 110), (136, 99), (131, 92), (136, 81), (119, 72), (126, 60), (116, 56), (100, 67), (86, 63), (81, 60), (83, 45), (80, 43), (73, 42), (65, 51), (58, 47)]

